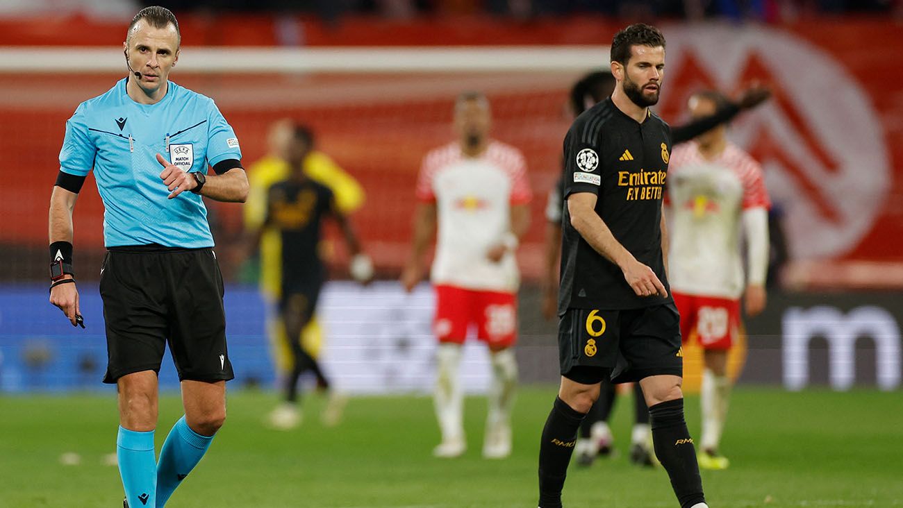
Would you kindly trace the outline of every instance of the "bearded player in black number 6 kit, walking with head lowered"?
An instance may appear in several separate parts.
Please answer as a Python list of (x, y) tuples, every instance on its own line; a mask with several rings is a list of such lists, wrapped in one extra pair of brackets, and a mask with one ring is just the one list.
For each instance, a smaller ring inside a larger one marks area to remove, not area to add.
[(684, 421), (679, 320), (666, 278), (662, 197), (671, 129), (658, 102), (665, 37), (633, 24), (611, 43), (612, 96), (578, 116), (564, 138), (561, 387), (539, 451), (539, 506), (561, 508), (577, 429), (600, 382), (638, 381), (656, 456), (681, 508), (708, 508)]

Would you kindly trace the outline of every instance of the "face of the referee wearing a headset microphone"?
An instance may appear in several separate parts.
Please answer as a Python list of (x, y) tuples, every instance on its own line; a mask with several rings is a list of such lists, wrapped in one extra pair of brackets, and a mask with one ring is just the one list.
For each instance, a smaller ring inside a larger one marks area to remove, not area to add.
[(135, 23), (125, 42), (126, 58), (132, 72), (140, 72), (134, 79), (144, 92), (153, 94), (163, 87), (169, 73), (179, 60), (179, 32), (172, 24), (155, 28), (146, 21)]

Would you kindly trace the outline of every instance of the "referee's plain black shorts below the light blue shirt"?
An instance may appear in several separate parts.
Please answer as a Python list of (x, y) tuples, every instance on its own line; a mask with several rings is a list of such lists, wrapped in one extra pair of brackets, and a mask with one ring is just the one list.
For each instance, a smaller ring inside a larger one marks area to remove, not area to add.
[(107, 374), (160, 372), (169, 343), (179, 379), (235, 377), (226, 349), (223, 282), (209, 248), (111, 247), (100, 272), (107, 324)]

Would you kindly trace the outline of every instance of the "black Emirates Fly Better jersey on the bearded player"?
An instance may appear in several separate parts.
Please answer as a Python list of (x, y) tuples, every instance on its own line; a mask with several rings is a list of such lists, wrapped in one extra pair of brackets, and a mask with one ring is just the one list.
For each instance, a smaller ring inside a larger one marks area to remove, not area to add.
[(638, 123), (606, 99), (574, 120), (564, 138), (563, 197), (592, 192), (596, 213), (615, 239), (656, 273), (667, 297), (638, 297), (620, 268), (597, 253), (571, 226), (563, 207), (561, 289), (567, 309), (638, 309), (671, 301), (662, 257), (662, 198), (670, 127), (651, 111)]

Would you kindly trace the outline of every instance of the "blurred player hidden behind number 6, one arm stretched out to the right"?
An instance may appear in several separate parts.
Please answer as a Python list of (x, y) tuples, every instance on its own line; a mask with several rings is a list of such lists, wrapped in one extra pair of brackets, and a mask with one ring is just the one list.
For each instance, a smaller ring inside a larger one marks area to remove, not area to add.
[[(574, 83), (571, 88), (569, 109), (574, 117), (579, 116), (586, 109), (609, 97), (614, 88), (615, 79), (610, 72), (603, 70), (590, 72)], [(713, 126), (729, 122), (741, 111), (759, 106), (769, 96), (768, 88), (759, 86), (747, 88), (737, 102), (724, 100), (710, 114), (694, 117), (694, 120), (688, 125), (672, 126), (673, 143), (684, 143), (698, 134), (703, 134)], [(545, 207), (543, 314), (546, 319), (552, 319), (557, 315), (563, 184), (563, 178), (559, 179), (554, 189), (549, 191)], [(603, 380), (599, 400), (592, 405), (580, 427), (580, 437), (574, 448), (574, 453), (577, 454), (577, 464), (589, 466), (597, 455), (610, 453), (613, 437), (608, 420), (616, 395), (615, 385), (608, 380)], [(641, 466), (652, 466), (656, 459), (652, 449), (652, 433), (649, 429), (649, 411), (638, 384), (634, 385), (634, 417), (635, 423), (630, 436), (630, 461)]]

